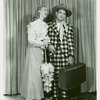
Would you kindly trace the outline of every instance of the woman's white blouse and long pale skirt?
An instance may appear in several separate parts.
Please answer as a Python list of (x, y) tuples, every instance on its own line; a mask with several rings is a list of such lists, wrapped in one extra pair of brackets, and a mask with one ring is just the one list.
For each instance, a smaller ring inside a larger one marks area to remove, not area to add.
[(48, 25), (40, 19), (30, 22), (28, 27), (28, 48), (23, 69), (20, 94), (26, 99), (44, 97), (40, 66), (43, 61), (43, 45), (41, 41), (47, 34)]

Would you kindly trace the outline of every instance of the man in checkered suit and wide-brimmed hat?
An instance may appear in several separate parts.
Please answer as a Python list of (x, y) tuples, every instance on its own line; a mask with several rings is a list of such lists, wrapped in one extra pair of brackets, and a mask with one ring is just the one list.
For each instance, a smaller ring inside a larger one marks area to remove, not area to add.
[(59, 89), (58, 75), (59, 69), (66, 67), (74, 62), (74, 40), (73, 29), (70, 24), (65, 22), (66, 17), (72, 12), (63, 4), (56, 5), (52, 9), (55, 20), (49, 23), (48, 36), (50, 37), (49, 58), (54, 65), (53, 99), (67, 100), (67, 92)]

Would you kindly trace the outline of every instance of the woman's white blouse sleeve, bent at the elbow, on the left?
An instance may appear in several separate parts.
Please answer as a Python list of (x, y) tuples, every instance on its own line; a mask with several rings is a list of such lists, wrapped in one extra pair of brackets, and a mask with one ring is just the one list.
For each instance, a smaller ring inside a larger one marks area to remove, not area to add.
[(40, 39), (36, 39), (35, 26), (29, 24), (27, 26), (28, 42), (34, 46), (42, 46), (43, 42)]

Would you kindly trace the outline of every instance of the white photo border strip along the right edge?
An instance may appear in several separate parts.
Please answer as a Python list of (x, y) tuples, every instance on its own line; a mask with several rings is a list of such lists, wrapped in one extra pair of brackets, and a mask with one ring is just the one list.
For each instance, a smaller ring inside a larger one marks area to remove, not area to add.
[(96, 0), (96, 80), (97, 100), (100, 100), (100, 0)]

